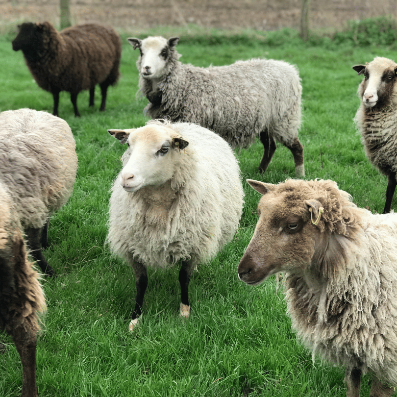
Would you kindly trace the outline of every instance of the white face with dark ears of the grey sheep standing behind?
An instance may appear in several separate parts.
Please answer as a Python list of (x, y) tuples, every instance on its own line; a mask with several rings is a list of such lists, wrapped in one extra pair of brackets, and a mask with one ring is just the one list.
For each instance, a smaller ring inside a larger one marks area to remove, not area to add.
[(179, 38), (173, 37), (166, 40), (160, 36), (149, 36), (145, 40), (132, 37), (127, 40), (134, 50), (139, 48), (141, 53), (137, 62), (139, 73), (144, 78), (152, 80), (164, 75), (170, 51), (176, 46)]

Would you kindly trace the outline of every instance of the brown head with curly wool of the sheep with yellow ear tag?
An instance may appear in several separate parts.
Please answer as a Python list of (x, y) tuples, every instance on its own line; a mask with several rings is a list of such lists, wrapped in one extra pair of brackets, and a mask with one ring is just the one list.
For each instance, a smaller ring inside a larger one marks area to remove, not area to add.
[(240, 279), (256, 285), (277, 272), (304, 273), (313, 263), (328, 265), (338, 245), (330, 236), (344, 235), (351, 221), (349, 195), (333, 181), (247, 182), (262, 198), (258, 223), (237, 268)]

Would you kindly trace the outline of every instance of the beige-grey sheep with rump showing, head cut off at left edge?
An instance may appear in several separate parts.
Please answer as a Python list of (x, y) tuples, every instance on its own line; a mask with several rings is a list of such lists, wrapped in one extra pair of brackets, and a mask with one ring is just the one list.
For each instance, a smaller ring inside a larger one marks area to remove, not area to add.
[(0, 180), (7, 186), (40, 269), (54, 275), (44, 258), (50, 214), (66, 203), (77, 170), (75, 142), (59, 117), (31, 109), (0, 113)]

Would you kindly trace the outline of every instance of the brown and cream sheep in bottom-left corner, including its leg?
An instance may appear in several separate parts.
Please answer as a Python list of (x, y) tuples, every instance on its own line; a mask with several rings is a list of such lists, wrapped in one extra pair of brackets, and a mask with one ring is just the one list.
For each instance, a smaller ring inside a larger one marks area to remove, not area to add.
[(36, 397), (38, 313), (46, 302), (28, 261), (18, 207), (0, 180), (0, 331), (11, 335), (21, 356), (22, 397)]

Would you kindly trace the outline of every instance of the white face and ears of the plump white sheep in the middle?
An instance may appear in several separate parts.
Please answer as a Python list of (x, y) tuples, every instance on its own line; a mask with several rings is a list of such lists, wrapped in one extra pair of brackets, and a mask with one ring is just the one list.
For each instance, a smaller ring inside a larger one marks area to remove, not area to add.
[(119, 178), (129, 193), (146, 186), (157, 187), (170, 180), (177, 167), (177, 156), (183, 155), (180, 150), (188, 146), (181, 136), (161, 125), (108, 132), (128, 145)]

